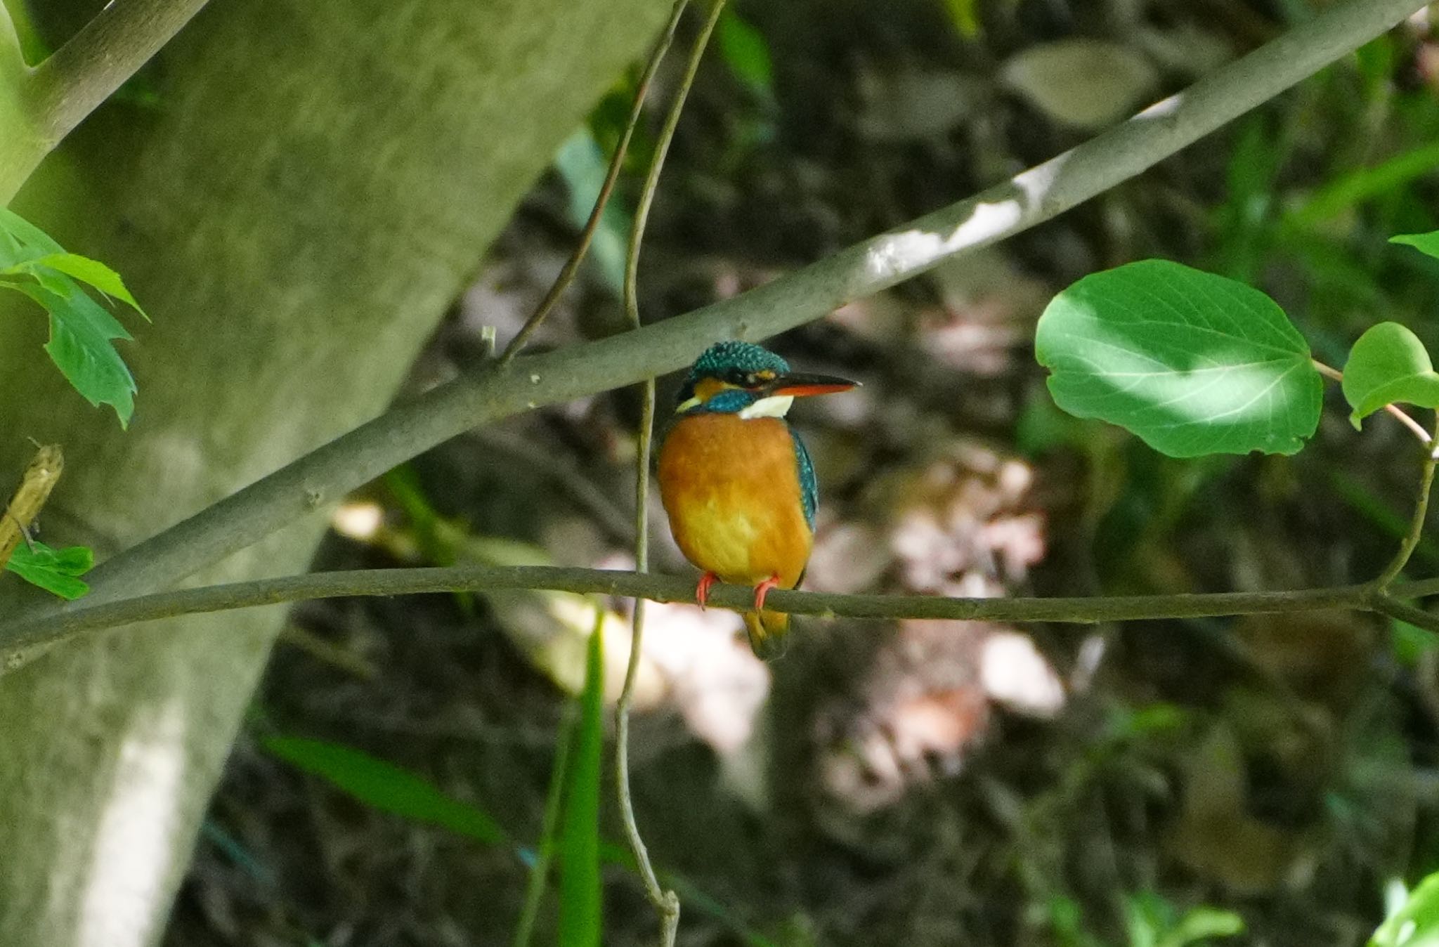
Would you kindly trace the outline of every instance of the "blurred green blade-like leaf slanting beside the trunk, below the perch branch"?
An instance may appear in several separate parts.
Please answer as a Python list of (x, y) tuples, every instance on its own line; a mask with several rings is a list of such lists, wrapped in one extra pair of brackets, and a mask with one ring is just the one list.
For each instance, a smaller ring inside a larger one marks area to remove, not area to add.
[(381, 812), (436, 825), (479, 842), (505, 842), (504, 829), (482, 809), (360, 750), (302, 737), (266, 737), (263, 746), (291, 766)]

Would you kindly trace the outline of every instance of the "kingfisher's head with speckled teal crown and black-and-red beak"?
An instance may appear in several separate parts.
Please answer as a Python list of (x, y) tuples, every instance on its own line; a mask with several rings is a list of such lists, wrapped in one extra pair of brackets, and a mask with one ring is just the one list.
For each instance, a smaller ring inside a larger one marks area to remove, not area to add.
[(796, 374), (773, 351), (750, 343), (715, 343), (689, 367), (675, 413), (784, 417), (797, 397), (848, 391), (856, 384), (827, 374)]

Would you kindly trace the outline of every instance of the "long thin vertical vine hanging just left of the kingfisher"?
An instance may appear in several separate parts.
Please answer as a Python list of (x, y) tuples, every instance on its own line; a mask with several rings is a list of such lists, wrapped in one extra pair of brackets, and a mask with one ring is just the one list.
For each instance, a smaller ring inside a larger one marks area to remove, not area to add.
[[(669, 154), (669, 144), (675, 138), (675, 128), (679, 127), (679, 117), (685, 111), (685, 99), (699, 72), (699, 62), (704, 59), (705, 47), (709, 45), (709, 35), (714, 33), (720, 13), (725, 0), (715, 0), (709, 10), (709, 17), (695, 37), (685, 63), (685, 75), (675, 89), (675, 101), (669, 105), (665, 124), (659, 138), (655, 141), (655, 157), (640, 189), (639, 203), (635, 209), (635, 226), (630, 229), (629, 246), (625, 255), (625, 315), (632, 330), (640, 328), (639, 318), (639, 250), (645, 243), (645, 226), (649, 222), (649, 209), (655, 203), (655, 191), (659, 189), (659, 176), (665, 168), (665, 155)], [(649, 571), (649, 456), (655, 435), (655, 379), (645, 379), (643, 407), (639, 422), (639, 450), (635, 455), (635, 570), (640, 574)], [(639, 823), (635, 819), (635, 802), (630, 796), (629, 784), (629, 714), (635, 694), (635, 681), (639, 679), (640, 648), (645, 639), (645, 600), (635, 600), (635, 632), (630, 639), (629, 666), (625, 669), (625, 687), (620, 699), (614, 705), (614, 789), (619, 796), (620, 817), (625, 823), (625, 838), (629, 842), (630, 853), (639, 868), (639, 876), (645, 882), (645, 897), (650, 907), (659, 914), (662, 947), (673, 947), (679, 933), (679, 895), (672, 889), (666, 891), (655, 875), (655, 866), (649, 861), (649, 851), (645, 839), (639, 833)]]

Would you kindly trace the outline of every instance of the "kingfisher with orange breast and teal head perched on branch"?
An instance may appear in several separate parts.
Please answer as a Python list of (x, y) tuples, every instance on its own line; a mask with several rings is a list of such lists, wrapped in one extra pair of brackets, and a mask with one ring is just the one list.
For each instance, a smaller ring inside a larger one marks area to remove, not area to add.
[(705, 350), (679, 389), (656, 475), (669, 530), (704, 573), (701, 606), (715, 581), (754, 587), (744, 623), (760, 658), (784, 649), (790, 616), (764, 597), (804, 579), (819, 507), (814, 465), (784, 416), (796, 397), (856, 384), (796, 374), (771, 351), (727, 341)]

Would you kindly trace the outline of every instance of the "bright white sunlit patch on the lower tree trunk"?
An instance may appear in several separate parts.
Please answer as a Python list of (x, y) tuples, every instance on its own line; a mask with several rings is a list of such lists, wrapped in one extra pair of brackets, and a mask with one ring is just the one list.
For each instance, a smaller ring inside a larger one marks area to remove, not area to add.
[(78, 947), (144, 947), (165, 917), (186, 776), (184, 712), (141, 707), (119, 744), (115, 779), (79, 892)]

